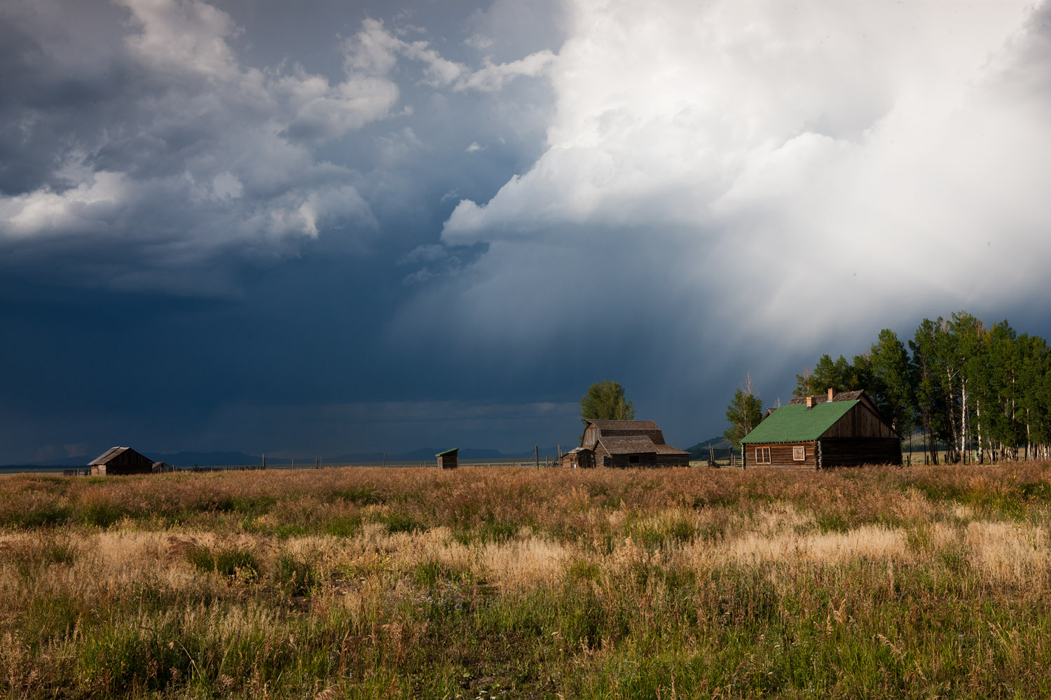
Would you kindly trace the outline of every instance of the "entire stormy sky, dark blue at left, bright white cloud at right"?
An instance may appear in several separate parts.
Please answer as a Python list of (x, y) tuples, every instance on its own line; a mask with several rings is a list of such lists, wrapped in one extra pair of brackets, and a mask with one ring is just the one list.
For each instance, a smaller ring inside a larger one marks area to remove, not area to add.
[(687, 447), (750, 375), (1051, 335), (1051, 3), (7, 0), (0, 463)]

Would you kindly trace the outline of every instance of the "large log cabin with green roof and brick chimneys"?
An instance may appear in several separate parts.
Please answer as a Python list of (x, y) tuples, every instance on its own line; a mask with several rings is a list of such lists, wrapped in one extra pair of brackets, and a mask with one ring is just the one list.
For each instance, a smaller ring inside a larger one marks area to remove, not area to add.
[(798, 397), (741, 440), (745, 467), (901, 464), (902, 441), (863, 391)]

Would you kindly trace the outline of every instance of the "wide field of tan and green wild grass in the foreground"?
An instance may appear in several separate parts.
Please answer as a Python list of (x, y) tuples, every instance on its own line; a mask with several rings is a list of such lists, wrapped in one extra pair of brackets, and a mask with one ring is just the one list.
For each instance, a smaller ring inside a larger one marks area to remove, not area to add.
[(5, 697), (1051, 696), (1051, 465), (0, 478)]

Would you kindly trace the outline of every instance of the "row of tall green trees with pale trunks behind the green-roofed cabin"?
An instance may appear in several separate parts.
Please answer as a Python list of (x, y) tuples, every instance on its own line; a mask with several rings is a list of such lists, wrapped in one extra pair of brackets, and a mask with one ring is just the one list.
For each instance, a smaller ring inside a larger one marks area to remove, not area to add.
[(889, 328), (847, 361), (822, 355), (795, 396), (864, 389), (900, 436), (919, 431), (925, 461), (1051, 458), (1051, 349), (1006, 320), (925, 318), (908, 344)]

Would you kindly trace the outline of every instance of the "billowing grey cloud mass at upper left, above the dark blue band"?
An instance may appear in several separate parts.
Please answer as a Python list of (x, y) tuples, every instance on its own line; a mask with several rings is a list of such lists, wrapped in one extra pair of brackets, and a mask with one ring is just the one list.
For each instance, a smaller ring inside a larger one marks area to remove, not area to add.
[(380, 148), (360, 160), (333, 155), (384, 121), (400, 121), (400, 146), (423, 145), (404, 126), (413, 110), (395, 79), (492, 92), (551, 60), (471, 68), (366, 18), (335, 43), (330, 78), (288, 61), (245, 64), (234, 19), (206, 3), (91, 9), (4, 10), (0, 247), (47, 266), (56, 247), (77, 251), (82, 272), (97, 264), (105, 274), (94, 277), (118, 289), (153, 289), (158, 271), (181, 269), (183, 291), (213, 293), (222, 283), (203, 289), (194, 267), (287, 255), (322, 232), (375, 237), (363, 172), (397, 157), (383, 147), (390, 137), (373, 134)]

